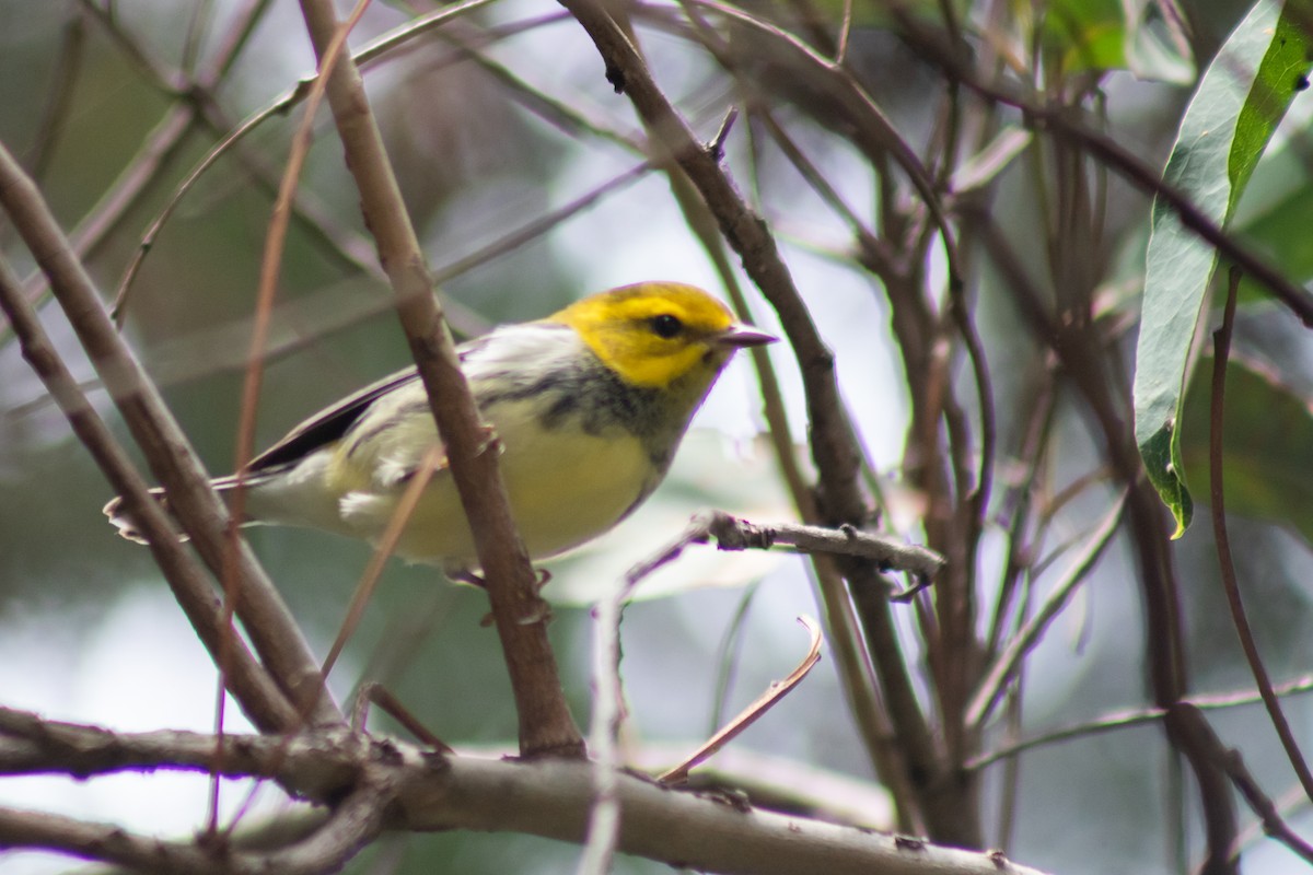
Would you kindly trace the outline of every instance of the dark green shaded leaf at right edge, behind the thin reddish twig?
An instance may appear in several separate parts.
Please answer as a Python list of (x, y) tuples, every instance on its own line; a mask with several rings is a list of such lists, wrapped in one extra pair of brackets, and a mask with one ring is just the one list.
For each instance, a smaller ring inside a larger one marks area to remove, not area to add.
[[(1209, 489), (1208, 409), (1213, 359), (1200, 362), (1182, 415), (1182, 458), (1191, 481)], [(1268, 519), (1313, 544), (1313, 405), (1268, 369), (1230, 359), (1222, 421), (1226, 512)]]

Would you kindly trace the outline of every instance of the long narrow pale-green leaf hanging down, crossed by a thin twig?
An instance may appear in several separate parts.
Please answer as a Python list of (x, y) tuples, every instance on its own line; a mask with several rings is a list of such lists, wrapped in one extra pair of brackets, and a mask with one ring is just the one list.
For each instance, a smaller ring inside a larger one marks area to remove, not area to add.
[[(1299, 22), (1309, 12), (1308, 0), (1288, 8), (1260, 0), (1226, 39), (1186, 110), (1163, 182), (1217, 224), (1226, 224), (1278, 122), (1302, 89), (1309, 39)], [(1182, 474), (1182, 430), (1174, 426), (1217, 253), (1161, 199), (1152, 226), (1136, 346), (1136, 443), (1149, 480), (1176, 518), (1174, 537), (1180, 537), (1192, 502)]]

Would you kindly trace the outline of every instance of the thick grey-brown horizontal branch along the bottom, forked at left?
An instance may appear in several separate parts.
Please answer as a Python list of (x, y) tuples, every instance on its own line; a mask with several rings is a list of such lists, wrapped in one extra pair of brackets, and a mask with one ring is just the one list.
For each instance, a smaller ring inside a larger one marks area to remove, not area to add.
[[(47, 729), (37, 732), (32, 728), (34, 720), (33, 715), (0, 711), (0, 771), (60, 767), (55, 748), (32, 741), (37, 735), (58, 737), (64, 750), (81, 750), (76, 758), (76, 773), (81, 775), (151, 767), (202, 771), (215, 745), (213, 736), (188, 732), (116, 735), (72, 724), (46, 724)], [(26, 728), (14, 737), (13, 727)], [(17, 753), (20, 746), (26, 753)], [(225, 750), (225, 774), (276, 774), (285, 787), (311, 800), (340, 795), (340, 781), (358, 775), (356, 788), (335, 808), (324, 829), (272, 855), (228, 850), (222, 857), (225, 872), (316, 871), (307, 861), (331, 861), (376, 826), (520, 832), (579, 842), (593, 795), (592, 767), (586, 762), (441, 757), (339, 729), (307, 732), (290, 741), (227, 736)], [(727, 804), (722, 795), (671, 790), (629, 774), (617, 777), (617, 799), (624, 811), (618, 850), (697, 871), (1040, 875), (998, 853), (936, 847), (748, 804)], [(383, 820), (376, 820), (379, 812), (386, 812)], [(13, 809), (0, 809), (0, 844), (63, 850), (151, 871), (221, 871), (214, 851), (194, 844), (142, 840), (114, 828)]]

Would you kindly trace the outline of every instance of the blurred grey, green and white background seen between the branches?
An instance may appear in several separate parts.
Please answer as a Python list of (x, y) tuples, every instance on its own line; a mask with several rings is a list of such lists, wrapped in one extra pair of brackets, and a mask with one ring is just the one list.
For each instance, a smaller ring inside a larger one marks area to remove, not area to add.
[[(25, 157), (64, 227), (76, 236), (89, 220), (104, 216), (102, 198), (125, 181), (125, 171), (144, 167), (148, 174), (140, 195), (85, 254), (106, 300), (150, 223), (217, 136), (311, 70), (294, 4), (268, 4), (231, 76), (206, 97), (213, 98), (209, 121), (171, 143), (158, 164), (143, 165), (143, 150), (164, 142), (167, 119), (186, 98), (173, 93), (177, 71), (209, 70), (234, 21), (257, 5), (0, 0), (0, 140)], [(1155, 167), (1171, 147), (1197, 71), (1247, 9), (1243, 3), (1213, 0), (1179, 5), (957, 0), (906, 8), (937, 24), (944, 5), (965, 22), (981, 51), (1003, 58), (1008, 75), (1045, 98), (1081, 94), (1115, 138)], [(362, 45), (428, 8), (376, 4), (352, 42)], [(744, 8), (794, 30), (822, 54), (832, 49), (844, 9), (838, 0)], [(1174, 41), (1182, 30), (1165, 25), (1165, 9), (1184, 10), (1188, 39)], [(742, 80), (696, 43), (696, 28), (679, 7), (654, 4), (634, 13), (658, 81), (699, 135), (710, 139), (726, 109), (743, 100)], [(852, 14), (846, 63), (894, 130), (914, 148), (930, 148), (945, 98), (941, 76), (894, 35), (882, 4), (856, 3)], [(503, 0), (440, 33), (446, 35), (431, 34), (387, 55), (366, 76), (412, 219), (439, 272), (603, 192), (586, 209), (549, 223), (544, 234), (446, 277), (442, 294), (457, 331), (473, 335), (491, 324), (538, 317), (588, 291), (638, 279), (720, 287), (666, 177), (632, 172), (645, 159), (630, 146), (642, 139), (641, 125), (629, 101), (604, 80), (596, 51), (569, 16), (554, 4)], [(752, 66), (739, 72), (755, 83), (754, 98), (769, 97), (776, 121), (840, 198), (872, 226), (888, 219), (880, 215), (888, 168), (872, 167), (823, 105), (798, 109), (821, 98), (786, 66), (752, 47), (759, 34), (729, 26), (725, 33), (739, 41), (738, 56)], [(460, 42), (482, 46), (496, 66), (470, 60), (453, 47)], [(542, 96), (575, 117), (546, 108)], [(1305, 220), (1313, 173), (1301, 127), (1306, 115), (1306, 98), (1297, 100), (1236, 226), (1300, 282), (1313, 278)], [(152, 243), (126, 304), (125, 331), (215, 474), (231, 467), (270, 190), (297, 118), (298, 110), (274, 115), (201, 177)], [(1022, 130), (1010, 110), (998, 110), (987, 123), (1001, 132)], [(301, 186), (303, 211), (293, 223), (284, 260), (260, 443), (407, 362), (327, 117), (319, 131)], [(1094, 314), (1111, 338), (1106, 367), (1125, 376), (1144, 278), (1146, 197), (1098, 167), (1083, 168), (1102, 206), (1096, 220), (1071, 236), (1057, 227), (1054, 209), (1064, 195), (1057, 190), (1065, 178), (1062, 161), (1070, 156), (1043, 140), (1022, 139), (1011, 152), (995, 156), (997, 168), (985, 167), (990, 157), (985, 150), (976, 157), (974, 168), (964, 160), (952, 169), (962, 180), (968, 169), (979, 174), (981, 203), (1032, 282), (1053, 300), (1062, 299), (1064, 283), (1088, 289)], [(884, 487), (885, 525), (920, 539), (922, 497), (901, 476), (907, 442), (914, 439), (906, 362), (897, 353), (882, 283), (860, 266), (848, 223), (798, 174), (759, 118), (741, 119), (731, 130), (726, 164), (784, 244), (813, 316), (836, 353), (855, 426)], [(0, 245), (4, 257), (32, 274), (33, 262), (3, 222)], [(1008, 491), (1024, 484), (1031, 462), (1018, 458), (1016, 447), (1035, 405), (1044, 401), (1036, 387), (1044, 386), (1054, 392), (1053, 428), (1046, 451), (1033, 462), (1037, 485), (1029, 495), (1037, 504), (1052, 504), (1103, 466), (1102, 442), (1079, 396), (1061, 380), (1046, 382), (1044, 375), (1053, 370), (1049, 350), (1019, 316), (1011, 278), (969, 252), (974, 317), (998, 415), (995, 502), (1022, 500)], [(926, 294), (936, 295), (941, 253), (931, 254), (923, 265)], [(1228, 485), (1238, 491), (1233, 509), (1246, 514), (1232, 519), (1232, 537), (1242, 544), (1239, 575), (1268, 668), (1278, 678), (1291, 678), (1313, 662), (1305, 634), (1313, 619), (1308, 596), (1313, 441), (1306, 439), (1313, 356), (1306, 333), (1288, 314), (1255, 291), (1246, 300), (1237, 352), (1258, 365), (1234, 366), (1236, 418), (1228, 442), (1236, 466), (1253, 460), (1253, 476), (1241, 479), (1242, 470), (1232, 468), (1237, 476)], [(760, 300), (752, 306), (771, 327), (768, 307)], [(51, 311), (47, 327), (79, 375), (91, 380), (92, 371), (58, 314)], [(797, 375), (786, 350), (772, 356), (784, 379), (790, 437), (804, 442)], [(1280, 394), (1264, 395), (1267, 390), (1254, 382), (1259, 374), (1271, 375), (1263, 386), (1279, 386)], [(955, 367), (953, 380), (962, 397), (972, 397), (965, 366)], [(1187, 436), (1205, 439), (1196, 401)], [(102, 395), (97, 404), (109, 408)], [(1280, 404), (1279, 420), (1274, 404)], [(979, 411), (968, 404), (968, 415), (978, 428)], [(590, 707), (590, 598), (614, 585), (628, 564), (678, 533), (701, 506), (763, 521), (792, 514), (769, 451), (755, 439), (762, 428), (759, 401), (746, 362), (726, 375), (697, 425), (708, 433), (689, 438), (651, 508), (582, 555), (548, 564), (555, 575), (548, 594), (558, 593), (551, 632), (580, 720), (587, 720)], [(1191, 483), (1203, 497), (1205, 481), (1194, 474), (1200, 451), (1207, 447), (1187, 446)], [(1274, 483), (1274, 467), (1288, 476)], [(1049, 556), (1096, 527), (1116, 489), (1099, 478), (1091, 483), (1075, 500), (1054, 506), (1049, 529), (1027, 544), (1035, 556)], [(108, 497), (105, 483), (5, 333), (0, 337), (0, 703), (123, 729), (209, 729), (213, 669), (181, 615), (169, 610), (172, 602), (150, 556), (118, 540), (105, 525), (98, 508)], [(993, 588), (1010, 559), (1006, 535), (993, 525), (981, 538), (976, 580), (986, 606), (994, 602)], [(251, 538), (323, 652), (368, 547), (293, 530), (261, 530)], [(1001, 720), (987, 731), (985, 750), (1148, 703), (1141, 594), (1129, 540), (1125, 534), (1113, 540), (1037, 645), (1023, 676), (1024, 711), (1014, 702), (1011, 724)], [(1196, 523), (1176, 542), (1174, 559), (1184, 590), (1194, 687), (1250, 685), (1217, 584), (1208, 526)], [(1027, 594), (1031, 603), (1043, 601), (1053, 577), (1035, 575)], [(806, 565), (794, 558), (706, 554), (674, 569), (670, 581), (649, 593), (653, 598), (633, 605), (624, 624), (622, 670), (632, 708), (625, 740), (635, 756), (645, 745), (692, 748), (718, 719), (784, 676), (805, 649), (793, 618), (818, 611), (811, 590)], [(515, 715), (495, 635), (479, 624), (486, 610), (481, 593), (440, 585), (431, 569), (393, 563), (335, 673), (336, 690), (345, 697), (362, 678), (383, 681), (457, 748), (509, 749)], [(922, 649), (913, 610), (898, 609), (897, 618), (905, 647), (916, 657)], [(983, 609), (982, 634), (987, 621)], [(864, 805), (865, 823), (890, 826), (834, 670), (832, 660), (822, 661), (735, 748), (786, 763), (792, 769), (786, 782), (804, 788), (831, 787), (823, 783), (826, 777), (856, 779), (859, 784), (842, 792)], [(927, 701), (930, 683), (920, 670), (918, 686)], [(1313, 737), (1306, 704), (1291, 699), (1288, 707), (1297, 735)], [(1284, 798), (1293, 778), (1260, 711), (1233, 708), (1216, 712), (1213, 720), (1270, 792)], [(386, 720), (379, 725), (389, 727)], [(1199, 824), (1190, 804), (1173, 802), (1182, 773), (1157, 727), (1082, 736), (1027, 752), (1018, 762), (1016, 773), (995, 765), (983, 775), (983, 833), (1011, 857), (1061, 872), (1166, 872), (1197, 854)], [(840, 791), (832, 792), (831, 803), (842, 807)], [(232, 802), (240, 792), (230, 790), (226, 796)], [(7, 779), (0, 782), (0, 799), (184, 834), (204, 817), (205, 782), (140, 777), (77, 786)], [(277, 809), (273, 799), (261, 808)], [(1174, 823), (1173, 815), (1184, 821)], [(1293, 817), (1296, 826), (1313, 825), (1308, 800)], [(1280, 846), (1257, 834), (1251, 841), (1246, 859), (1253, 871), (1305, 868)], [(373, 846), (351, 871), (551, 872), (572, 868), (576, 853), (520, 836), (406, 836)], [(28, 872), (70, 867), (67, 861), (30, 854), (7, 859), (0, 853), (0, 863), (7, 871)], [(617, 872), (664, 870), (634, 859), (621, 859), (616, 867)]]

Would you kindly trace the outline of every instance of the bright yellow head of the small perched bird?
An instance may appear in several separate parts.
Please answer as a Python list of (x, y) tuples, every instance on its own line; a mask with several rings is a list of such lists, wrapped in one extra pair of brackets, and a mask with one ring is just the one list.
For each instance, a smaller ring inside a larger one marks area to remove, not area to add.
[(603, 291), (548, 321), (574, 328), (604, 365), (645, 388), (667, 388), (693, 374), (709, 384), (735, 349), (776, 340), (735, 321), (725, 304), (701, 289), (678, 282)]

